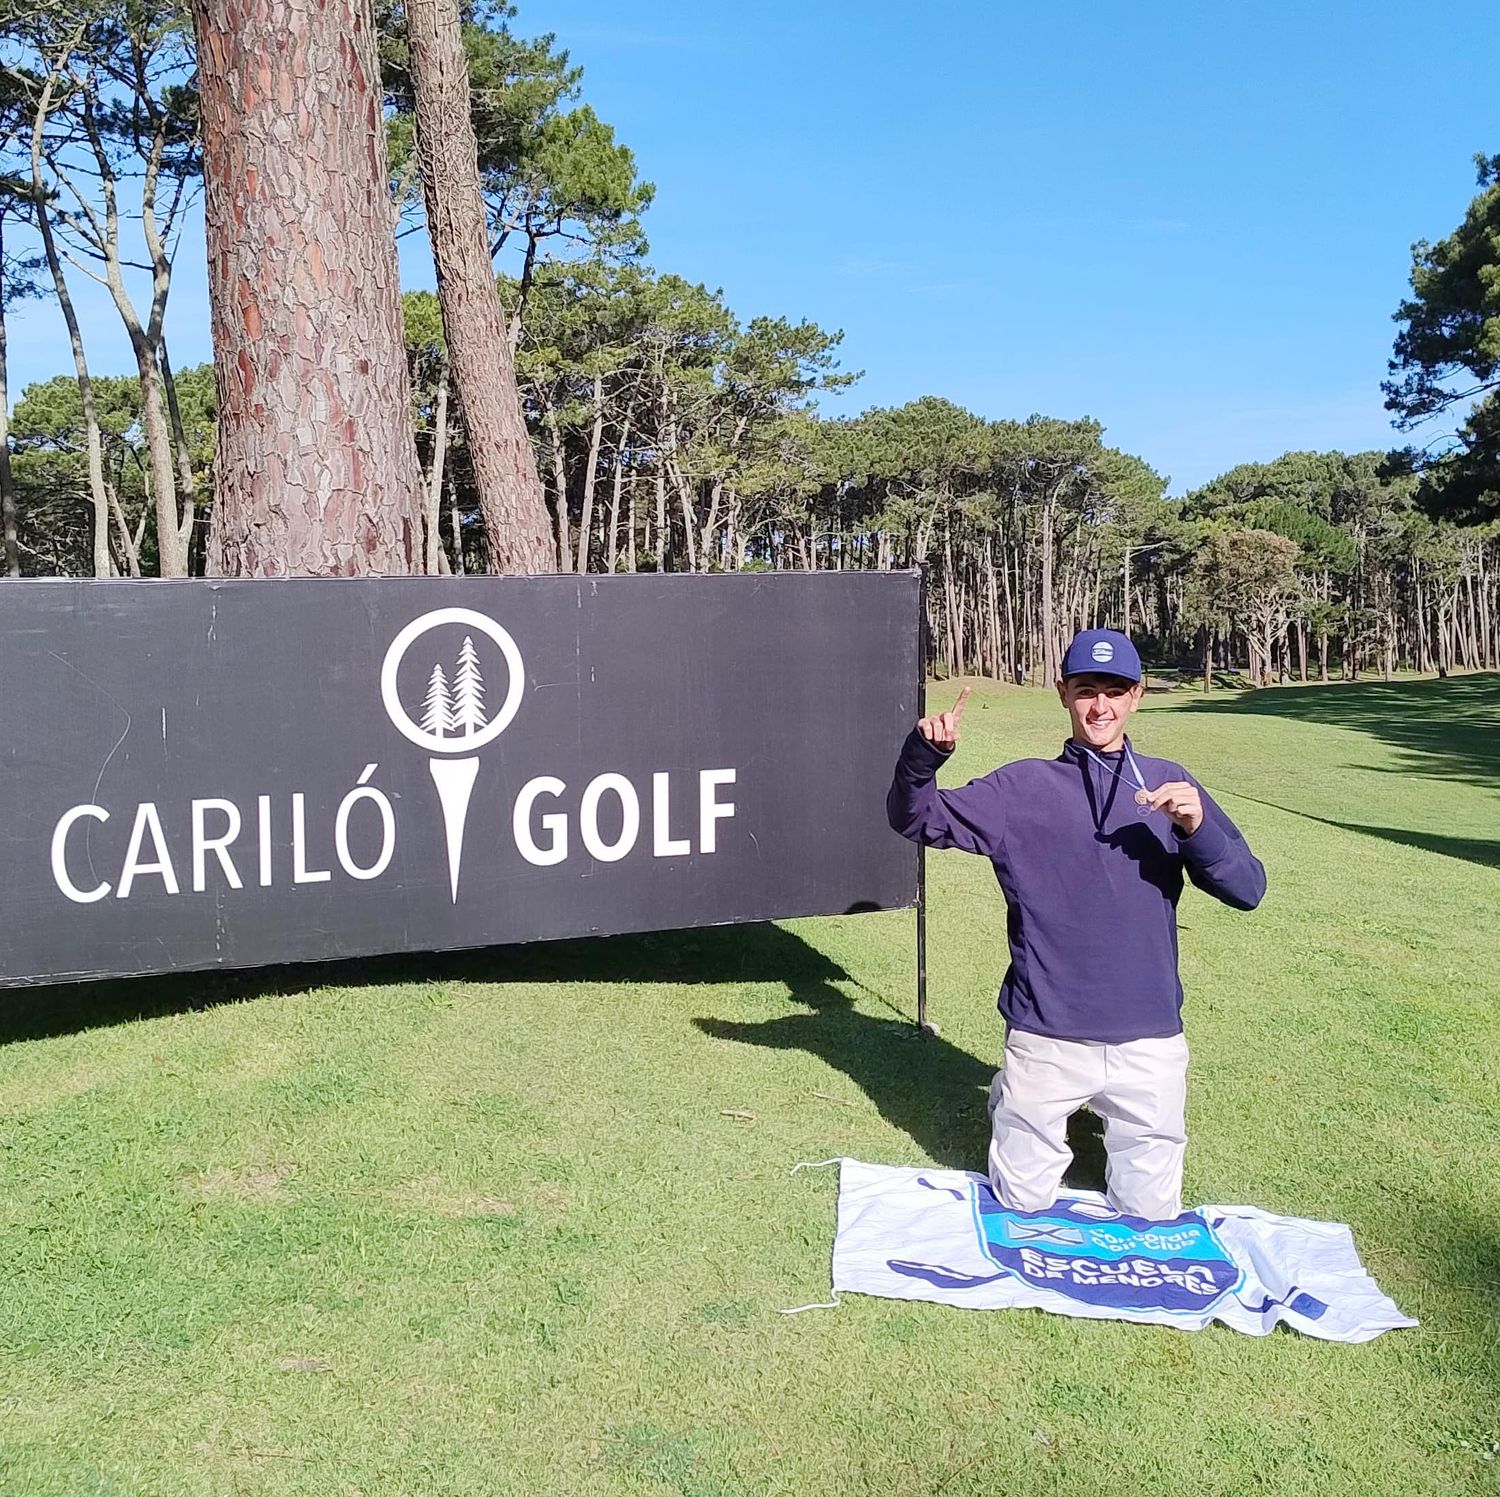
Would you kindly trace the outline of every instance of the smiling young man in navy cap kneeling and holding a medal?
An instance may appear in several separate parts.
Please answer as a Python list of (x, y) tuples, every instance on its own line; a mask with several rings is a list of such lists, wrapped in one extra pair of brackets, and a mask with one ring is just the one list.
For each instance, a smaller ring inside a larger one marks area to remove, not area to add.
[(1254, 909), (1266, 870), (1182, 765), (1131, 747), (1142, 670), (1124, 634), (1084, 630), (1068, 646), (1058, 696), (1072, 734), (1056, 759), (939, 790), (968, 696), (916, 724), (886, 810), (912, 842), (982, 854), (1005, 894), (990, 1184), (1011, 1210), (1052, 1206), (1071, 1158), (1068, 1119), (1088, 1104), (1104, 1119), (1110, 1204), (1167, 1221), (1182, 1210), (1186, 1150), (1182, 876)]

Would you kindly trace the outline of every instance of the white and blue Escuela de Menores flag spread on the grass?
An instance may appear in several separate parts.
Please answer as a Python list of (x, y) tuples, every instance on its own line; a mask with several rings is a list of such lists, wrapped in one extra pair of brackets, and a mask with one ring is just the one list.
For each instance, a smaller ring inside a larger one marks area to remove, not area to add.
[[(830, 1161), (834, 1162), (834, 1161)], [(1286, 1323), (1324, 1341), (1414, 1326), (1365, 1272), (1348, 1227), (1252, 1206), (1174, 1221), (1122, 1216), (1074, 1191), (1005, 1210), (981, 1174), (840, 1160), (834, 1294), (968, 1310), (1050, 1310), (1263, 1336)]]

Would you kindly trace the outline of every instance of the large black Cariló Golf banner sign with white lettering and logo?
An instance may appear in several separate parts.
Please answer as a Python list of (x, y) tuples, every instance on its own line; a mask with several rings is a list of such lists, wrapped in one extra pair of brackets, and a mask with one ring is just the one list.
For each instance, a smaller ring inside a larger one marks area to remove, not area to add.
[(0, 584), (0, 984), (916, 892), (915, 573)]

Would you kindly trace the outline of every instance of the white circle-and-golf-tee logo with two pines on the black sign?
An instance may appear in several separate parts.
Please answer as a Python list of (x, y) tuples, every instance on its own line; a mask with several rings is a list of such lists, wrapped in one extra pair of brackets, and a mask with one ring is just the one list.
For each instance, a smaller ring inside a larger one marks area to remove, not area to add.
[[(400, 699), (400, 663), (411, 646), (434, 628), (459, 624), (465, 633), (453, 666), (453, 678), (434, 662), (420, 716), (412, 717)], [(489, 716), (484, 706), (484, 675), (480, 670), (474, 636), (492, 640), (506, 662), (508, 682), (500, 710)], [(440, 608), (414, 618), (390, 642), (380, 672), (380, 694), (396, 730), (432, 758), (428, 770), (442, 807), (442, 828), (448, 846), (448, 888), (453, 903), (459, 898), (459, 864), (464, 858), (464, 824), (468, 819), (474, 777), (478, 774), (478, 750), (494, 742), (508, 726), (520, 706), (526, 686), (526, 668), (516, 642), (486, 614), (468, 608)], [(462, 756), (462, 758), (458, 758)]]

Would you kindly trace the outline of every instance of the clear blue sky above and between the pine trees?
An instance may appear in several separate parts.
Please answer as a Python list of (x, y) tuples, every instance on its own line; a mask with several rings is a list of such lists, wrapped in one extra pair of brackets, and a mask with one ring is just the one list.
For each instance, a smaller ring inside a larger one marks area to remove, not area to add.
[[(657, 184), (657, 268), (843, 328), (866, 374), (824, 410), (1086, 414), (1174, 492), (1395, 440), (1410, 244), (1500, 152), (1486, 4), (520, 0), (514, 24), (556, 33)], [(94, 368), (129, 370), (80, 294)], [(207, 358), (196, 225), (172, 309), (174, 360)], [(10, 346), (12, 392), (70, 368), (51, 308)]]

